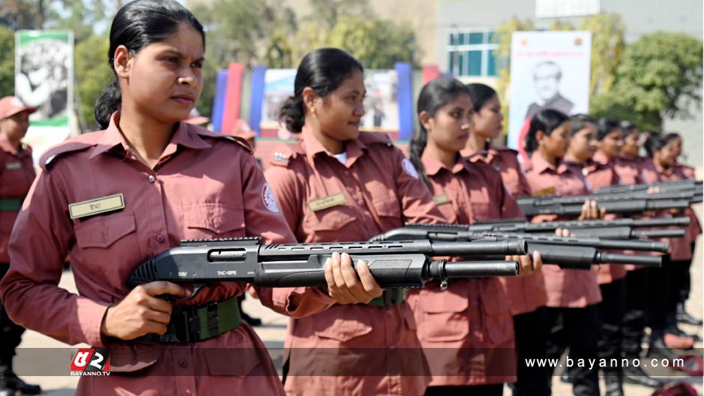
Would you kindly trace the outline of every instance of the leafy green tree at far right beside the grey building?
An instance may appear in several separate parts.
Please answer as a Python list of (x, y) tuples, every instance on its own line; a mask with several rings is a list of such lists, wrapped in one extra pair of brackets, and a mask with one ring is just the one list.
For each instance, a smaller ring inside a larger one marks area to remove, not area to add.
[(598, 116), (629, 119), (661, 130), (662, 120), (688, 117), (701, 102), (702, 42), (682, 33), (655, 32), (624, 50), (610, 92), (592, 100)]

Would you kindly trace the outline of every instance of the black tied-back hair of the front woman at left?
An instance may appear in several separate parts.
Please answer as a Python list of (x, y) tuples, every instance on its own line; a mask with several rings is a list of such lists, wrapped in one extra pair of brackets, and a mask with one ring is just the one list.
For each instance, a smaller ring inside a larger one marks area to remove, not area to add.
[[(115, 15), (110, 28), (110, 49), (108, 63), (113, 66), (115, 50), (121, 45), (136, 54), (149, 44), (162, 42), (174, 34), (180, 23), (187, 23), (203, 37), (206, 46), (206, 32), (203, 25), (187, 8), (175, 0), (135, 0), (126, 4)], [(100, 95), (95, 104), (95, 119), (101, 129), (108, 128), (110, 116), (120, 109), (122, 94), (117, 76)]]

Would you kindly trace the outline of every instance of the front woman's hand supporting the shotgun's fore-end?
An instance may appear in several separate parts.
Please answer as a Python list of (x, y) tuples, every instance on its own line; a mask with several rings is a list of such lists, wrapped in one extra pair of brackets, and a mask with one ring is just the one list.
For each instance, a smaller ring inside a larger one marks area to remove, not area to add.
[(372, 271), (364, 261), (358, 261), (354, 270), (349, 254), (335, 252), (325, 263), (325, 281), (327, 292), (338, 304), (367, 304), (382, 295)]

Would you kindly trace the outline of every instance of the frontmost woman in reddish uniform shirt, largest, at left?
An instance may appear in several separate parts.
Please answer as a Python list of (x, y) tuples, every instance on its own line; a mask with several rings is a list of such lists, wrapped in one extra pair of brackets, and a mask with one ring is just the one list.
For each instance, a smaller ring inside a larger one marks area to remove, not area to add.
[[(81, 378), (77, 395), (284, 395), (263, 342), (241, 323), (236, 298), (246, 285), (215, 283), (185, 302), (158, 298), (189, 296), (182, 285), (126, 285), (139, 264), (182, 239), (294, 242), (249, 144), (183, 122), (203, 87), (205, 44), (177, 1), (120, 8), (108, 52), (115, 80), (96, 104), (103, 130), (42, 156), (15, 223), (0, 283), (9, 316), (71, 345), (109, 349), (111, 375)], [(58, 287), (67, 256), (77, 295)], [(351, 262), (335, 256), (327, 290), (257, 287), (258, 295), (292, 316), (368, 302), (381, 290), (359, 268), (364, 287), (356, 276), (348, 283)]]

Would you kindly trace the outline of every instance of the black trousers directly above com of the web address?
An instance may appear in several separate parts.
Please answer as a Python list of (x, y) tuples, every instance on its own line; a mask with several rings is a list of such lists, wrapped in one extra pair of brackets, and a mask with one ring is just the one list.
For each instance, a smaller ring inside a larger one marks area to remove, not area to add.
[(662, 338), (665, 333), (672, 266), (672, 261), (666, 255), (662, 256), (662, 267), (648, 269), (648, 309), (646, 312), (648, 327), (652, 330), (651, 340)]

